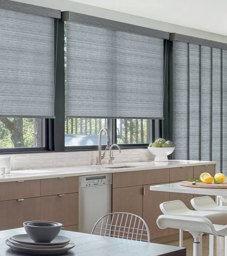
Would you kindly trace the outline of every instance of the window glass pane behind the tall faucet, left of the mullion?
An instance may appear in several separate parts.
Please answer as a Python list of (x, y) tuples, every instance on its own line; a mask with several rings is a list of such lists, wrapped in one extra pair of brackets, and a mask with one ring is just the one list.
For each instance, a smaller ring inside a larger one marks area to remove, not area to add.
[[(107, 128), (107, 119), (98, 118), (66, 118), (65, 146), (92, 146), (99, 144), (99, 130)], [(103, 132), (102, 145), (106, 144)]]

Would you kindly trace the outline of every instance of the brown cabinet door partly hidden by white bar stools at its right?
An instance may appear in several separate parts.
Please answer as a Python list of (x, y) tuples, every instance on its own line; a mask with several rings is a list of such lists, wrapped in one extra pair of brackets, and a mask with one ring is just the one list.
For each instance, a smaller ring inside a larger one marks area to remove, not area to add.
[[(155, 184), (152, 184), (155, 185)], [(158, 184), (157, 184), (158, 185)], [(150, 230), (150, 238), (158, 238), (169, 235), (169, 228), (160, 229), (156, 220), (162, 214), (160, 204), (169, 201), (169, 192), (150, 191), (150, 185), (144, 185), (143, 195), (143, 219)]]

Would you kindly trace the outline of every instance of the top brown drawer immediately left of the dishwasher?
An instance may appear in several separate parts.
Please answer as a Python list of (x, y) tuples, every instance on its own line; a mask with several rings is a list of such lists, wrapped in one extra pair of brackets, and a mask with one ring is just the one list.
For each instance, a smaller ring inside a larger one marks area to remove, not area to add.
[(41, 180), (41, 196), (78, 192), (78, 177), (60, 177)]

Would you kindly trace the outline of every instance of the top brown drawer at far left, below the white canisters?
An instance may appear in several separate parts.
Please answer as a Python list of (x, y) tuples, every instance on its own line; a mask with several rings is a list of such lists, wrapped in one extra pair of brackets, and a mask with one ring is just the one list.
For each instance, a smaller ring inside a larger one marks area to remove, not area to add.
[(0, 183), (0, 201), (40, 197), (40, 180)]

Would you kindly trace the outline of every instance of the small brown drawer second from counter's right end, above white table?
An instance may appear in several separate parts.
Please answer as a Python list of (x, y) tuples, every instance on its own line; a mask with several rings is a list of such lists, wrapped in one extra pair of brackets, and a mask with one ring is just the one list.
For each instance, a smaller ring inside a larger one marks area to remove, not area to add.
[(169, 181), (193, 179), (193, 166), (182, 166), (169, 169)]

